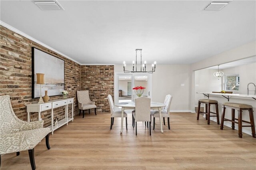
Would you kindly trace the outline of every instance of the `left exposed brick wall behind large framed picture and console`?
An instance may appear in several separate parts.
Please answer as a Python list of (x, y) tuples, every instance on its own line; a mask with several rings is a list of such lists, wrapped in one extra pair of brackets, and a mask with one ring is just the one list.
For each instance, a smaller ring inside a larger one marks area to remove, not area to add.
[[(32, 99), (32, 47), (50, 53), (65, 61), (65, 90), (74, 98), (74, 114), (78, 114), (76, 91), (81, 89), (81, 65), (39, 45), (31, 40), (0, 26), (0, 95), (10, 95), (13, 110), (19, 119), (27, 120), (25, 104), (38, 101)], [(42, 92), (44, 96), (44, 92)], [(62, 95), (50, 97), (62, 99)], [(64, 117), (65, 107), (54, 109), (54, 119)], [(69, 115), (71, 105), (69, 105)], [(41, 113), (44, 127), (50, 125), (50, 111)], [(32, 113), (32, 121), (38, 120), (38, 113)]]

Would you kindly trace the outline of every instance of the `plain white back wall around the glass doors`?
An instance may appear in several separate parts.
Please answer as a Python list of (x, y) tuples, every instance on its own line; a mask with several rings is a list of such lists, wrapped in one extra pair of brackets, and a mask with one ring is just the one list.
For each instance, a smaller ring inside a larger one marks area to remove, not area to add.
[[(127, 68), (132, 68), (127, 65)], [(123, 73), (123, 65), (115, 65), (115, 73)], [(189, 110), (190, 65), (156, 65), (152, 73), (152, 101), (164, 102), (165, 96), (173, 96), (171, 111)], [(185, 86), (181, 87), (181, 84)]]

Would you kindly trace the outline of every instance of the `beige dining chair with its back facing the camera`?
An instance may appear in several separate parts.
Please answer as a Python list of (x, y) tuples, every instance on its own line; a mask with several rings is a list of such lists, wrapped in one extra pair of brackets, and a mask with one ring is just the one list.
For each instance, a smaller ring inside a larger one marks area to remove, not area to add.
[(133, 114), (137, 135), (137, 122), (149, 122), (149, 135), (151, 136), (150, 98), (139, 97), (135, 99), (135, 113)]

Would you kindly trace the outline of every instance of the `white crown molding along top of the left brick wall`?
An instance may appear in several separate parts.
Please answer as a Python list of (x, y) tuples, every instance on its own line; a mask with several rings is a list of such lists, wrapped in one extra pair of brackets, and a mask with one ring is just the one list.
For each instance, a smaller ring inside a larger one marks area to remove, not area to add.
[(70, 59), (70, 60), (72, 60), (72, 61), (74, 61), (74, 62), (76, 62), (76, 63), (78, 63), (78, 64), (80, 64), (80, 65), (84, 65), (84, 64), (81, 64), (81, 63), (79, 63), (78, 61), (76, 61), (76, 60), (74, 60), (74, 59), (68, 57), (67, 55), (61, 53), (60, 51), (57, 51), (56, 49), (54, 49), (54, 48), (52, 48), (52, 47), (49, 47), (48, 45), (46, 45), (46, 44), (44, 44), (44, 43), (42, 43), (42, 42), (40, 42), (40, 41), (38, 41), (38, 40), (36, 40), (36, 39), (30, 37), (29, 35), (25, 34), (24, 32), (21, 32), (20, 30), (17, 30), (16, 28), (14, 28), (14, 27), (12, 27), (12, 26), (6, 24), (5, 22), (2, 22), (1, 20), (0, 20), (0, 25), (3, 26), (3, 27), (5, 27), (5, 28), (8, 28), (9, 30), (12, 30), (13, 32), (16, 32), (17, 34), (20, 34), (21, 36), (23, 36), (23, 37), (25, 37), (25, 38), (28, 38), (29, 40), (31, 40), (31, 41), (33, 41), (33, 42), (35, 42), (35, 43), (38, 43), (38, 44), (40, 44), (40, 45), (42, 45), (42, 46), (44, 46), (44, 47), (46, 47), (46, 48), (48, 48), (48, 49), (50, 49), (50, 50), (52, 50), (52, 51), (54, 51), (54, 52), (56, 52), (56, 53), (62, 55), (63, 57), (65, 57), (65, 58), (67, 58), (67, 59)]

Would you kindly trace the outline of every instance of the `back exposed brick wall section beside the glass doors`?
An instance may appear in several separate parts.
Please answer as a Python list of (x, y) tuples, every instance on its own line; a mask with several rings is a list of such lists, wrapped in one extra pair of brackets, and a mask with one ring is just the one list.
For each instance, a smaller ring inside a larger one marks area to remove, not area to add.
[(98, 112), (110, 112), (107, 96), (114, 98), (114, 65), (82, 65), (81, 90), (89, 90)]

